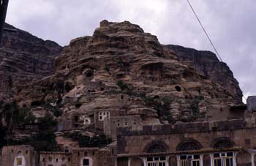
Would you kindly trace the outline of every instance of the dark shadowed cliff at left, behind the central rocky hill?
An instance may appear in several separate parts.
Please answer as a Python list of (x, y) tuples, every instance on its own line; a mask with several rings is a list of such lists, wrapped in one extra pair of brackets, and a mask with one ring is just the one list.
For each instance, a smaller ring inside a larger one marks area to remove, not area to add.
[(9, 101), (24, 86), (52, 75), (54, 58), (62, 48), (56, 42), (44, 41), (9, 24), (5, 28), (0, 48), (0, 100)]

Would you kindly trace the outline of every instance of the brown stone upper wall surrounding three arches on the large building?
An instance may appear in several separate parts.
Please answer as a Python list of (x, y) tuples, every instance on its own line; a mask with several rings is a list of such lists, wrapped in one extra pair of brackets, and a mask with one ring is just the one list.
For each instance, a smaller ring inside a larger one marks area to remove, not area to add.
[(256, 147), (255, 118), (230, 121), (208, 121), (176, 125), (144, 126), (141, 130), (131, 127), (118, 129), (118, 154), (140, 154), (152, 141), (167, 145), (168, 152), (176, 152), (180, 143), (196, 140), (202, 148), (213, 148), (214, 141), (228, 138), (234, 146)]

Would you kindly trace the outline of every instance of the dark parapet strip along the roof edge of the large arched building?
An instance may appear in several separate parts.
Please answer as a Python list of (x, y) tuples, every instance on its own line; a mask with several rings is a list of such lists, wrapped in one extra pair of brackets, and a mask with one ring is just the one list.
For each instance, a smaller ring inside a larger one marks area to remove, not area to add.
[(211, 132), (244, 128), (256, 128), (256, 118), (241, 118), (229, 121), (203, 121), (182, 124), (160, 124), (143, 126), (136, 129), (132, 127), (121, 127), (117, 129), (117, 135), (170, 135), (189, 132)]

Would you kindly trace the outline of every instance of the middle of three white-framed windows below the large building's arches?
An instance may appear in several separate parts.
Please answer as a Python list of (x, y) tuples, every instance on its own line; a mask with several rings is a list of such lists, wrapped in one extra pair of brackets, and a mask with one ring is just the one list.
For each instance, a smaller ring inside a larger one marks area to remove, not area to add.
[(181, 166), (200, 166), (200, 155), (181, 155), (179, 156)]

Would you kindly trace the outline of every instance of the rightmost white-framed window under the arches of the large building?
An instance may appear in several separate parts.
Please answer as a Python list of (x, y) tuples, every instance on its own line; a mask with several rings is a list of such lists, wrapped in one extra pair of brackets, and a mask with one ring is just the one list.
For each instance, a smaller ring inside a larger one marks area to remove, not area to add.
[(214, 166), (233, 166), (233, 162), (233, 152), (214, 154)]

